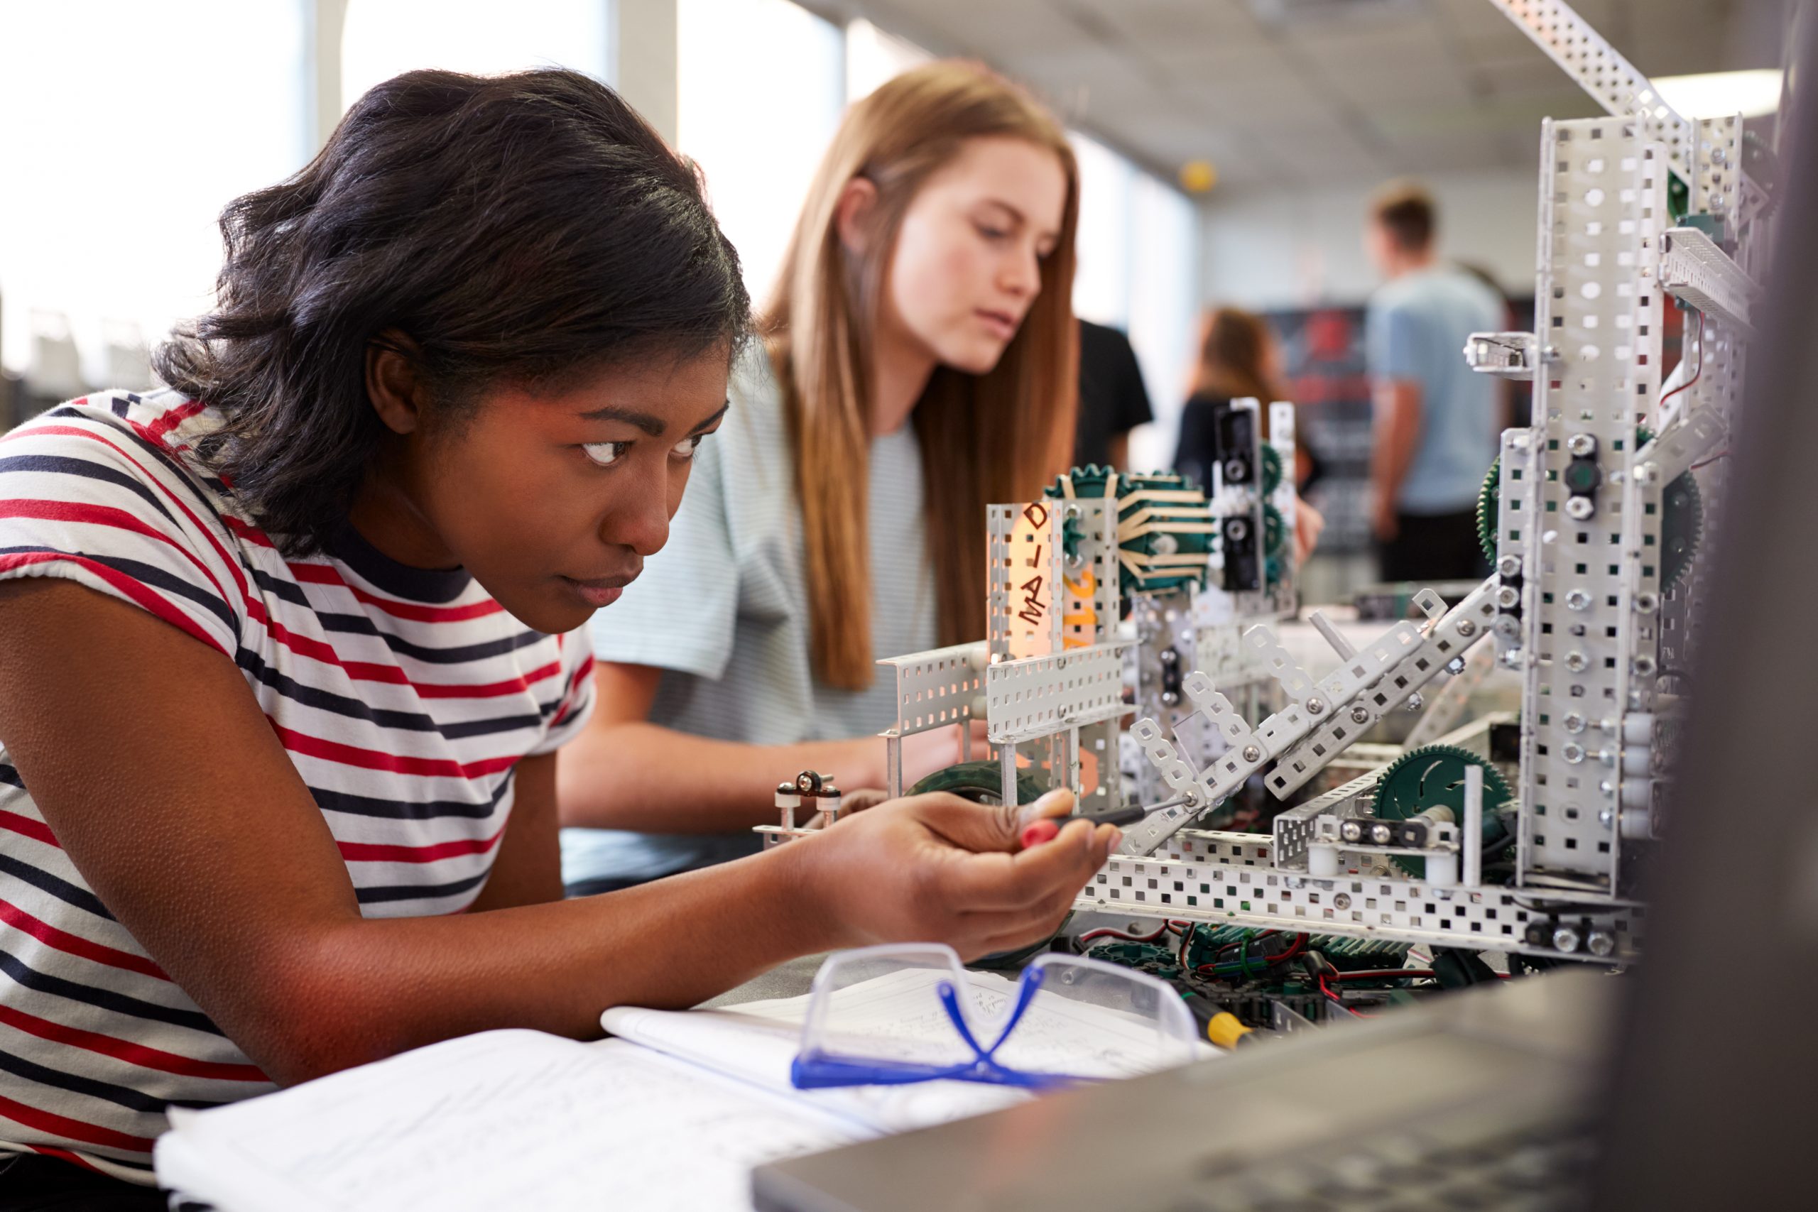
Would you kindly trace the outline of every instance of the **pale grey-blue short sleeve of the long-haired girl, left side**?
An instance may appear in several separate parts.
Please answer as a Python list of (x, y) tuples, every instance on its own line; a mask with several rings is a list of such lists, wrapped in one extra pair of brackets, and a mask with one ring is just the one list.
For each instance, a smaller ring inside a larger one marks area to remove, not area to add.
[(638, 580), (593, 616), (593, 652), (602, 661), (653, 665), (718, 680), (738, 627), (738, 563), (725, 505), (727, 449), (740, 438), (734, 414), (694, 452), (669, 541), (644, 561)]

